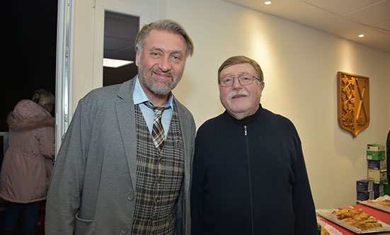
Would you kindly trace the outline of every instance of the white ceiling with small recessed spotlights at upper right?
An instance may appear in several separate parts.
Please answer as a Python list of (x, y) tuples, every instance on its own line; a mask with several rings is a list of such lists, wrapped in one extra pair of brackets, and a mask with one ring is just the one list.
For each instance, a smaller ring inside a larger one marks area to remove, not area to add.
[[(390, 0), (224, 0), (390, 53)], [(364, 34), (365, 38), (357, 36)]]

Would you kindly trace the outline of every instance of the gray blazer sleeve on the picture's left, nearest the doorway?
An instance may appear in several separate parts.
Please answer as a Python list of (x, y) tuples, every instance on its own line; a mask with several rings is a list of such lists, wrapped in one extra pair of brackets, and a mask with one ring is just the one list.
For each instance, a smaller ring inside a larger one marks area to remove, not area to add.
[(45, 234), (74, 234), (91, 132), (86, 108), (81, 99), (57, 154), (47, 193)]

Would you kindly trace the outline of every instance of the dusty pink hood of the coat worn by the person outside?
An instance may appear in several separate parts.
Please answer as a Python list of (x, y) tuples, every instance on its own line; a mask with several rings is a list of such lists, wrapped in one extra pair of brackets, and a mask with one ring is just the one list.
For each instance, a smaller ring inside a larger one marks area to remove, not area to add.
[(54, 127), (55, 118), (38, 103), (22, 100), (8, 115), (7, 123), (13, 130), (33, 130), (40, 127)]

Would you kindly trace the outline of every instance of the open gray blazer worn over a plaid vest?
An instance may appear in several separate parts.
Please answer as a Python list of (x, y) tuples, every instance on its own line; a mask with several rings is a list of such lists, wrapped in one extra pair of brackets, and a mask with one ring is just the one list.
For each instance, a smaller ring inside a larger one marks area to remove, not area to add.
[[(134, 81), (98, 88), (79, 101), (47, 193), (45, 234), (130, 234), (137, 182)], [(176, 98), (185, 173), (176, 206), (178, 234), (190, 234), (195, 122)]]

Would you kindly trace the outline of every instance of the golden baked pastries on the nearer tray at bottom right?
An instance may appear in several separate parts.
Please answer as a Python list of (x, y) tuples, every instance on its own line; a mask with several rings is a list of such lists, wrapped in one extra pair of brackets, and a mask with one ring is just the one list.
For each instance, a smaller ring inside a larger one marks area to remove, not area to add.
[(336, 218), (357, 227), (361, 231), (382, 227), (378, 219), (366, 214), (362, 209), (355, 209), (353, 207), (340, 207), (338, 210), (333, 210)]

